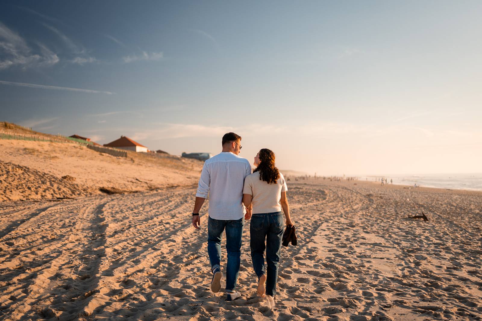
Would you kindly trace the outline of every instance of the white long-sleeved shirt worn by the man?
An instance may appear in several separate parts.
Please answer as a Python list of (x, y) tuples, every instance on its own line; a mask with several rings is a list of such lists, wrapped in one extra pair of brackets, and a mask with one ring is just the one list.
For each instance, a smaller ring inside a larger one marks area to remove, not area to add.
[(211, 218), (239, 220), (244, 216), (242, 189), (249, 174), (249, 161), (231, 152), (221, 152), (204, 162), (196, 197), (207, 198), (209, 193)]

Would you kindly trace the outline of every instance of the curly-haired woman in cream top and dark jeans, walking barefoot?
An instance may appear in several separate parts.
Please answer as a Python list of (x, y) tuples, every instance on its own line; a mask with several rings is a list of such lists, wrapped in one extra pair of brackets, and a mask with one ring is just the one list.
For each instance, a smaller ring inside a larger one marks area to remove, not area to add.
[[(283, 208), (286, 225), (291, 226), (290, 207), (286, 199), (286, 182), (274, 163), (274, 153), (261, 149), (254, 157), (256, 169), (246, 176), (243, 188), (243, 203), (252, 208), (251, 218), (251, 259), (254, 272), (258, 277), (258, 295), (274, 304), (276, 281), (278, 280), (278, 265), (280, 261), (281, 239), (284, 224), (281, 207)], [(246, 214), (249, 219), (249, 214)], [(265, 244), (266, 239), (266, 244)], [(265, 273), (264, 251), (266, 248), (267, 271)]]

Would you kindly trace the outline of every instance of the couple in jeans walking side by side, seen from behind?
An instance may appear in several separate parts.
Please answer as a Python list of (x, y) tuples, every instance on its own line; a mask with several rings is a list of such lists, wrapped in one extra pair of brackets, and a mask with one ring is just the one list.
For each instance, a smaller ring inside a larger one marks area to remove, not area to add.
[(241, 262), (242, 229), (244, 221), (251, 218), (251, 258), (258, 277), (257, 293), (261, 297), (268, 295), (270, 305), (274, 306), (284, 230), (281, 208), (286, 226), (293, 225), (286, 199), (286, 182), (275, 166), (275, 155), (271, 150), (263, 148), (256, 154), (256, 168), (251, 174), (250, 162), (239, 156), (241, 136), (227, 133), (223, 136), (222, 145), (220, 154), (204, 162), (192, 213), (192, 225), (199, 229), (199, 211), (209, 193), (208, 255), (213, 273), (211, 290), (216, 293), (221, 289), (221, 234), (226, 231), (227, 301), (241, 296), (235, 289)]

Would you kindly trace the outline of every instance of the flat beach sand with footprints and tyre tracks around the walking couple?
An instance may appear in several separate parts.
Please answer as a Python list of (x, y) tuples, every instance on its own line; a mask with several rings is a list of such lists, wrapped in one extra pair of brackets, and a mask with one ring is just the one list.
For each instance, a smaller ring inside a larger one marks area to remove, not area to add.
[[(249, 221), (241, 298), (210, 292), (208, 203), (195, 230), (195, 187), (0, 203), (0, 319), (482, 319), (482, 193), (322, 179), (288, 189), (298, 245), (281, 249), (274, 308), (256, 296)], [(422, 211), (428, 222), (407, 218)]]

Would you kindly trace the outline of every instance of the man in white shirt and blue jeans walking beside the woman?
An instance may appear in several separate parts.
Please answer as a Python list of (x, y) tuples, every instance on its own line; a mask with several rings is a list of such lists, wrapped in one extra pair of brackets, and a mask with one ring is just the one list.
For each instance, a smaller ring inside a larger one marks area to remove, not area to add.
[[(242, 204), (242, 190), (244, 178), (251, 174), (251, 165), (248, 160), (238, 156), (241, 151), (240, 135), (225, 134), (222, 145), (222, 152), (205, 161), (202, 167), (192, 212), (192, 225), (200, 228), (199, 211), (209, 193), (208, 254), (213, 273), (211, 291), (217, 293), (221, 289), (221, 233), (226, 229), (226, 300), (231, 301), (241, 296), (235, 288), (240, 269), (241, 236), (246, 213)], [(247, 212), (246, 219), (251, 217), (251, 210), (247, 209)]]

